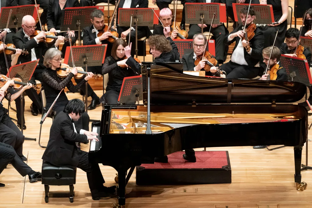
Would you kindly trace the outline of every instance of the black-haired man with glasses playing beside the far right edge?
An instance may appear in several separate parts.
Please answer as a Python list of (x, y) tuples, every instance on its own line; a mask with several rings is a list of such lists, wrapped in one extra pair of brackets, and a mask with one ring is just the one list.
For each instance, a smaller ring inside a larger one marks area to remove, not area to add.
[[(297, 57), (295, 54), (295, 50), (296, 50), (298, 41), (300, 42), (299, 35), (300, 35), (300, 31), (297, 28), (289, 28), (286, 31), (285, 43), (282, 43), (282, 46), (280, 46), (281, 54)], [(310, 64), (311, 53), (307, 48), (305, 48), (305, 50), (303, 51), (303, 55), (305, 55), (305, 59)]]

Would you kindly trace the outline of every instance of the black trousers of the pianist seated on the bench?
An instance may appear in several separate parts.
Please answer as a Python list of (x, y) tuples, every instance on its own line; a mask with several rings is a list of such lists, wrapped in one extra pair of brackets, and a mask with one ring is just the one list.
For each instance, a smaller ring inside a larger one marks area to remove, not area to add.
[(79, 156), (79, 163), (77, 168), (80, 168), (87, 173), (90, 191), (92, 194), (97, 193), (104, 187), (103, 183), (105, 183), (99, 164), (89, 162), (88, 152), (76, 149), (76, 154)]

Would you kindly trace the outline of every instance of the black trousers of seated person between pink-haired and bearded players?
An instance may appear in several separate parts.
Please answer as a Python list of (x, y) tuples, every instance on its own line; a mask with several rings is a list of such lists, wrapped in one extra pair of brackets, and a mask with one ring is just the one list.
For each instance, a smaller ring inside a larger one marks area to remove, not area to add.
[[(204, 32), (209, 32), (210, 25), (203, 28)], [(190, 25), (188, 31), (188, 39), (193, 39), (193, 36), (197, 33), (202, 33), (202, 28), (198, 25)], [(211, 33), (216, 40), (216, 59), (218, 63), (223, 63), (227, 59), (227, 51), (229, 50), (228, 45), (223, 41), (224, 37), (229, 34), (227, 28), (222, 24), (219, 27), (211, 28)]]

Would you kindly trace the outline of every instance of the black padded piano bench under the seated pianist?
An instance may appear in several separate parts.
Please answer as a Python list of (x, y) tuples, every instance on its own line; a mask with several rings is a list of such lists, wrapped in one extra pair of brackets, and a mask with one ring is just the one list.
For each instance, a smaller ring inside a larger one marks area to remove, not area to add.
[(74, 184), (76, 184), (76, 168), (68, 166), (55, 166), (49, 162), (42, 163), (41, 183), (44, 184), (46, 203), (49, 201), (49, 186), (69, 186), (71, 203), (74, 201)]

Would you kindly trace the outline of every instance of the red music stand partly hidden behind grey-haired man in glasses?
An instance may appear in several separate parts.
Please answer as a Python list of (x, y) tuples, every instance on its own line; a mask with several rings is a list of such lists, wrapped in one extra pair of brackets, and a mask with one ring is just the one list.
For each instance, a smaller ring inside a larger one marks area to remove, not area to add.
[[(174, 39), (173, 42), (179, 49), (180, 61), (184, 54), (193, 51), (193, 39)], [(209, 51), (213, 56), (216, 56), (215, 41), (208, 40), (207, 51)]]

